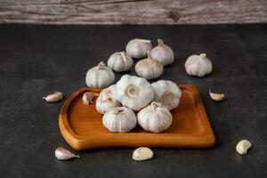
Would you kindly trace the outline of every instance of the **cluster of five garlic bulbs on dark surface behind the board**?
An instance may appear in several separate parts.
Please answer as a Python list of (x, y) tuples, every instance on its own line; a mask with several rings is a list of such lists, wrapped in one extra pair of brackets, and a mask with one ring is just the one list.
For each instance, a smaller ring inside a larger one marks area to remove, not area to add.
[(125, 72), (132, 68), (134, 59), (141, 59), (135, 65), (139, 77), (146, 79), (158, 78), (163, 67), (174, 62), (174, 52), (163, 40), (158, 39), (158, 46), (152, 48), (150, 40), (135, 38), (126, 44), (126, 52), (116, 52), (109, 56), (106, 63), (101, 61), (87, 71), (85, 81), (89, 87), (103, 88), (113, 83), (115, 77), (112, 70)]

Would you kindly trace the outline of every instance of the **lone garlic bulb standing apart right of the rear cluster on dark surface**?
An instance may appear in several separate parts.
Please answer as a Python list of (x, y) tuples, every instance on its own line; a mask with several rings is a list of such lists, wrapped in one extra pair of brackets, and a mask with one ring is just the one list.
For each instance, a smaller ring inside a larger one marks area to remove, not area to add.
[(204, 77), (213, 70), (212, 62), (206, 58), (206, 53), (191, 55), (184, 64), (186, 73), (190, 76)]

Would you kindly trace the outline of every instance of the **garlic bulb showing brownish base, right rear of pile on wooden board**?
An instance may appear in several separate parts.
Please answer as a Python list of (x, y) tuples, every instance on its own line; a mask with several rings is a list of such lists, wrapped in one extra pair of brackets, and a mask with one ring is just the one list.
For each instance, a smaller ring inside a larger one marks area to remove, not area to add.
[(154, 101), (161, 102), (167, 109), (171, 110), (178, 106), (182, 92), (172, 81), (158, 80), (151, 84), (155, 92)]

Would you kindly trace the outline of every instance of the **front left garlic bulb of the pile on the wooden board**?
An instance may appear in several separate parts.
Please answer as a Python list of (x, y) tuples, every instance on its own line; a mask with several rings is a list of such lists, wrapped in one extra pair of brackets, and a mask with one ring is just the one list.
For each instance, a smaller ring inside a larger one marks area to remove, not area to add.
[(133, 110), (117, 107), (104, 114), (102, 123), (112, 133), (127, 133), (135, 127), (137, 120)]

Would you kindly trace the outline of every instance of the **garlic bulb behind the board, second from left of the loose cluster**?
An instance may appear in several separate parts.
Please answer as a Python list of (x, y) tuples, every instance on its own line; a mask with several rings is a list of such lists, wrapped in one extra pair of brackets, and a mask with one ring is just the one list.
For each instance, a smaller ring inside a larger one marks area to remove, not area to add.
[(113, 53), (108, 60), (109, 68), (116, 72), (127, 71), (133, 64), (133, 59), (125, 52)]

